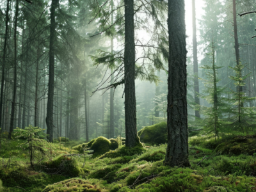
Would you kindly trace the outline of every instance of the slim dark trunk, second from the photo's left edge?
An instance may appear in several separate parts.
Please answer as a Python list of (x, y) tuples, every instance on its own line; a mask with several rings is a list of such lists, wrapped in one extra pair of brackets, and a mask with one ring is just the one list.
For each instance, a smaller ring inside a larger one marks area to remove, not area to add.
[(14, 81), (13, 81), (13, 97), (12, 97), (12, 112), (10, 120), (10, 129), (8, 139), (12, 139), (12, 132), (14, 129), (14, 114), (15, 114), (15, 102), (16, 102), (16, 91), (17, 91), (17, 20), (19, 14), (19, 0), (16, 0), (15, 10), (15, 24), (14, 24)]

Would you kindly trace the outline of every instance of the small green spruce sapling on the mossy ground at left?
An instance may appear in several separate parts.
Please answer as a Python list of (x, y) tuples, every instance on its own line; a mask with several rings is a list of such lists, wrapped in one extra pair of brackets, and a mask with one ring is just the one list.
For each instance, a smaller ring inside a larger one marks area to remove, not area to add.
[(40, 127), (33, 127), (32, 125), (25, 127), (25, 129), (20, 129), (19, 127), (17, 127), (17, 132), (19, 133), (19, 135), (16, 138), (26, 138), (26, 141), (24, 143), (21, 143), (20, 147), (23, 147), (24, 150), (29, 150), (30, 164), (33, 169), (33, 157), (35, 152), (40, 152), (43, 158), (45, 156), (45, 151), (42, 145), (42, 142), (44, 142), (44, 140), (40, 140), (38, 138), (38, 133), (42, 131), (44, 131), (44, 129), (41, 129)]

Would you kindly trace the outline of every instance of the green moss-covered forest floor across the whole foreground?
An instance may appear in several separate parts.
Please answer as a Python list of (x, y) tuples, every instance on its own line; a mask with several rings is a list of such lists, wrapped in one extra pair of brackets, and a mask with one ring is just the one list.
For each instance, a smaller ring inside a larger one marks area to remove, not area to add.
[(3, 191), (256, 191), (256, 150), (248, 151), (254, 141), (253, 136), (217, 142), (194, 136), (189, 138), (191, 168), (171, 168), (163, 163), (166, 145), (120, 146), (92, 158), (72, 150), (81, 141), (41, 140), (45, 154), (35, 152), (33, 170), (24, 140), (4, 140), (0, 179)]

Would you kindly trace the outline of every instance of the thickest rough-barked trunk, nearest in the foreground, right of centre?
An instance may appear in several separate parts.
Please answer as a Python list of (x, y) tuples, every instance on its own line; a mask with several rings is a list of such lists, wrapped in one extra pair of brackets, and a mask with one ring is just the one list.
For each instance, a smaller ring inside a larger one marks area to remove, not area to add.
[(184, 0), (168, 0), (169, 73), (165, 164), (189, 166)]

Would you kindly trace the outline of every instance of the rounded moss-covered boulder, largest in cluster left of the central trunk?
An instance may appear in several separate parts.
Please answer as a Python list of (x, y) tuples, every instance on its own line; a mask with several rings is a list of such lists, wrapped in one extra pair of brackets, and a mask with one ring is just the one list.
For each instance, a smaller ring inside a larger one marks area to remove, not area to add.
[(100, 156), (102, 154), (105, 154), (106, 152), (109, 152), (110, 150), (111, 142), (104, 137), (97, 138), (93, 143), (92, 147), (90, 148), (93, 150), (93, 157)]

